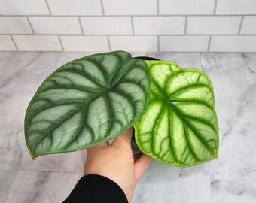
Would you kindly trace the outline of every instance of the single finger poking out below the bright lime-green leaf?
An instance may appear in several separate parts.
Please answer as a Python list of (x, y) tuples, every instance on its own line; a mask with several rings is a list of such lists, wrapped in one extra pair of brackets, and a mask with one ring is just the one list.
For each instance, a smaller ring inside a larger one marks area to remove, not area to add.
[(151, 162), (151, 157), (148, 155), (142, 154), (142, 156), (139, 157), (139, 159), (136, 160), (134, 163), (135, 167), (135, 177), (136, 180), (138, 181), (140, 177), (142, 177), (142, 174), (148, 168), (148, 165)]

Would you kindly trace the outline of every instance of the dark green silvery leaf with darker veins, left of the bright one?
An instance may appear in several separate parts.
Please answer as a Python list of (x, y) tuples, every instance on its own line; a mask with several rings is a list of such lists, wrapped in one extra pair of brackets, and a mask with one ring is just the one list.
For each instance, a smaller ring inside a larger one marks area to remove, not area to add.
[(44, 80), (26, 111), (32, 158), (120, 135), (142, 117), (150, 89), (145, 62), (130, 53), (101, 53), (63, 65)]

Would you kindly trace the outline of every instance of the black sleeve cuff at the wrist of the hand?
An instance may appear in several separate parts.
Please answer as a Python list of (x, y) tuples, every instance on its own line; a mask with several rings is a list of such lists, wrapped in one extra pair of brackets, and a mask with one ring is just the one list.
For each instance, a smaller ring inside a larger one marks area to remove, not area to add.
[(63, 203), (128, 203), (123, 189), (97, 174), (82, 177)]

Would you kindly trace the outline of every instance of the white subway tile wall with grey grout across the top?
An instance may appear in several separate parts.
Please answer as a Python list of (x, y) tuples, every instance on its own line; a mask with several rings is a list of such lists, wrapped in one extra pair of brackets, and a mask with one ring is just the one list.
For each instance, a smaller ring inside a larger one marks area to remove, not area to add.
[(255, 52), (255, 0), (0, 0), (0, 50)]

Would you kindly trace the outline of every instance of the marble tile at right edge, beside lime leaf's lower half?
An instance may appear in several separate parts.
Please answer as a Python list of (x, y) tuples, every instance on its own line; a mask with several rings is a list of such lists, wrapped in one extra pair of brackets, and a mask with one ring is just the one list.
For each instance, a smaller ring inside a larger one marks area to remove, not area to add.
[(256, 101), (218, 101), (217, 112), (220, 150), (212, 178), (256, 180)]

